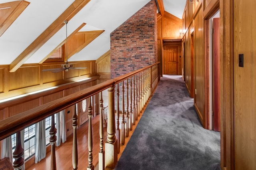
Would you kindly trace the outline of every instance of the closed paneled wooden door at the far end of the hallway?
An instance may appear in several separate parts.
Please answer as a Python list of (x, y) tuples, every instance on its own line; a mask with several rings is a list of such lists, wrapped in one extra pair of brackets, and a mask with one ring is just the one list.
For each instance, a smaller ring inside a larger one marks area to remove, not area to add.
[(165, 46), (166, 73), (178, 74), (178, 47)]

